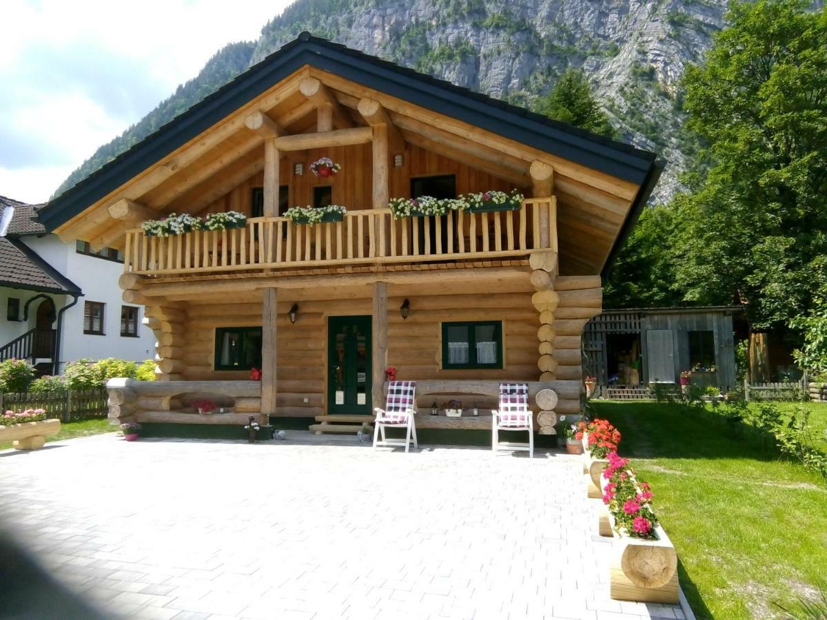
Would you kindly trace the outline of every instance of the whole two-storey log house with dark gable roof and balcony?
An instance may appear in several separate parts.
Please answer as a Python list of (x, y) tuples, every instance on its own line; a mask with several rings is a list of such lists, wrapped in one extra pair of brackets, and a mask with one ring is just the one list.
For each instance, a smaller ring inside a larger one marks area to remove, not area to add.
[[(341, 172), (312, 174), (322, 156)], [(651, 153), (303, 33), (39, 217), (65, 240), (124, 251), (123, 298), (146, 306), (157, 336), (168, 383), (114, 386), (113, 423), (203, 422), (188, 413), (198, 393), (233, 412), (210, 423), (363, 422), (394, 366), (421, 382), (420, 413), (448, 395), (485, 410), (503, 379), (552, 389), (538, 425), (549, 433), (554, 413), (580, 411), (601, 274), (661, 169)], [(517, 211), (395, 219), (388, 208), (514, 189)], [(347, 207), (342, 222), (283, 215), (329, 202)], [(245, 227), (140, 228), (231, 210)]]

